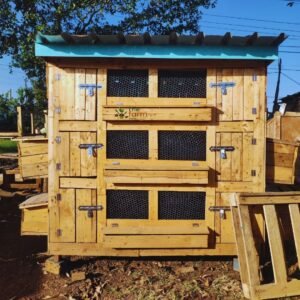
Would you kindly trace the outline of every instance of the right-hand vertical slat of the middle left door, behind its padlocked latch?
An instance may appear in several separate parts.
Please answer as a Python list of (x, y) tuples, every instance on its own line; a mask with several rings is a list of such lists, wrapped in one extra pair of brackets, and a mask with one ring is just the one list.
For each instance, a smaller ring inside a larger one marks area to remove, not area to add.
[[(94, 132), (81, 132), (80, 144), (95, 144), (96, 133)], [(101, 150), (96, 150), (96, 155)], [(80, 173), (82, 177), (96, 176), (97, 175), (96, 157), (89, 154), (88, 149), (80, 149)]]

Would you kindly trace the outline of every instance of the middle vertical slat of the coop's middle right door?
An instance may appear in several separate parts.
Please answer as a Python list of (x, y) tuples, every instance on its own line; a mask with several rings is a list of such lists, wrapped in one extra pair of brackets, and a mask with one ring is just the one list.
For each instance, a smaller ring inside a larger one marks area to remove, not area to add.
[(231, 135), (231, 145), (235, 148), (232, 152), (231, 161), (231, 180), (232, 181), (242, 181), (243, 174), (243, 134), (242, 133), (232, 133)]

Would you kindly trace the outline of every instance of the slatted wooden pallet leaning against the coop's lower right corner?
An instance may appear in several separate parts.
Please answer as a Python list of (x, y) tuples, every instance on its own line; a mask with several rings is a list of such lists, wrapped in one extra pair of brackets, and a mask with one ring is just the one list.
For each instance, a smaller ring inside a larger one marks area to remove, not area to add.
[[(288, 208), (298, 261), (300, 259), (300, 192), (236, 194), (231, 201), (236, 245), (244, 295), (249, 299), (271, 299), (300, 295), (300, 280), (288, 276), (278, 210)], [(261, 278), (261, 253), (253, 234), (253, 208), (262, 209), (266, 225), (265, 242), (271, 254), (274, 280)], [(299, 265), (298, 265), (299, 266)]]

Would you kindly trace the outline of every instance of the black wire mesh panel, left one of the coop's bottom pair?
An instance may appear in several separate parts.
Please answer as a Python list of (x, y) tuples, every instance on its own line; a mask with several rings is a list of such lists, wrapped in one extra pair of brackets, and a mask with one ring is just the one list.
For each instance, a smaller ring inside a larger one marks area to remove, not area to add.
[(107, 190), (108, 219), (148, 219), (148, 191)]

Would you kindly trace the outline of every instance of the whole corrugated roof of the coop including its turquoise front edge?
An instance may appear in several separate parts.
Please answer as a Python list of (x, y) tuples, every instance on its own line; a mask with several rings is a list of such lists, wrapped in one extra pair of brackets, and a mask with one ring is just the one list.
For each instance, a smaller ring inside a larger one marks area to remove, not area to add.
[(36, 36), (42, 57), (246, 59), (275, 60), (285, 34), (262, 36), (207, 35), (44, 35)]

